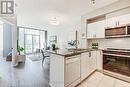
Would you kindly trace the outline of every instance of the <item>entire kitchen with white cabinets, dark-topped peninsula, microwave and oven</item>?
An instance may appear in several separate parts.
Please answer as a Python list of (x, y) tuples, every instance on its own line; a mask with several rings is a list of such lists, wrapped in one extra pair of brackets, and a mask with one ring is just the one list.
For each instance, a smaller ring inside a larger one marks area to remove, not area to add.
[(130, 6), (119, 2), (81, 19), (81, 45), (50, 52), (50, 85), (75, 87), (95, 71), (130, 82)]

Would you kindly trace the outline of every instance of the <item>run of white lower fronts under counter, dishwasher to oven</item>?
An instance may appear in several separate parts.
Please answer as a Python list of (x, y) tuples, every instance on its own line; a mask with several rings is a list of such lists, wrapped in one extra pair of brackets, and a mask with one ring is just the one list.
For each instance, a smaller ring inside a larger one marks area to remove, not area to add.
[(102, 70), (102, 51), (85, 52), (65, 61), (65, 87), (75, 87), (95, 70)]

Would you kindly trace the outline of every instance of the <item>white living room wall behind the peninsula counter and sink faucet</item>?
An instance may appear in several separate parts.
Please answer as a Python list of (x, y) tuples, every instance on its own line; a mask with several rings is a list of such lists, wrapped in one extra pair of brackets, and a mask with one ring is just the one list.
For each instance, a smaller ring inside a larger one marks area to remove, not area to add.
[[(48, 38), (49, 36), (57, 36), (57, 45), (60, 49), (65, 49), (68, 47), (67, 42), (73, 38), (73, 35), (70, 35), (71, 32), (78, 31), (78, 40), (81, 42), (81, 21), (76, 21), (75, 24), (69, 26), (68, 28), (61, 28), (61, 29), (50, 29), (48, 31)], [(81, 44), (81, 43), (80, 43)], [(79, 47), (80, 47), (79, 44)]]

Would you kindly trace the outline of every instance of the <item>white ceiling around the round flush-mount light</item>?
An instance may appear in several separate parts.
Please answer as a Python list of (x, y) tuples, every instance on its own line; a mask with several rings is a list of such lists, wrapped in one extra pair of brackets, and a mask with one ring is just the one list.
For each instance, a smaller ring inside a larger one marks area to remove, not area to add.
[[(65, 27), (79, 21), (81, 15), (116, 1), (96, 0), (93, 6), (90, 0), (16, 0), (16, 13), (19, 25), (37, 23), (49, 27)], [(60, 25), (52, 26), (49, 23), (52, 17), (57, 17)]]

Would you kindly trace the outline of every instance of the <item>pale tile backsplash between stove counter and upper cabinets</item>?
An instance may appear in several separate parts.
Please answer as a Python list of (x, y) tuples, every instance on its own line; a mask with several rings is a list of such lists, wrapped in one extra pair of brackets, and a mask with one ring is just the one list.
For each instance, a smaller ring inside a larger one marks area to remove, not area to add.
[(99, 49), (105, 49), (105, 48), (130, 49), (130, 38), (88, 40), (89, 48), (92, 48), (92, 43), (98, 43)]

